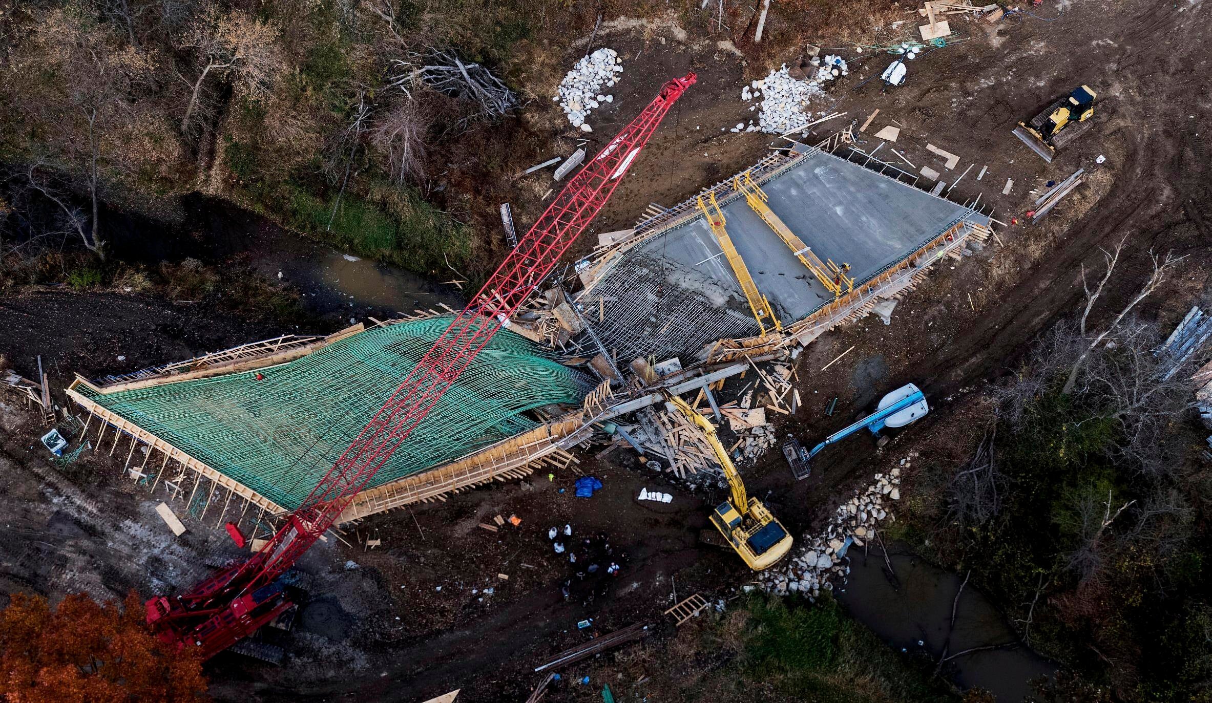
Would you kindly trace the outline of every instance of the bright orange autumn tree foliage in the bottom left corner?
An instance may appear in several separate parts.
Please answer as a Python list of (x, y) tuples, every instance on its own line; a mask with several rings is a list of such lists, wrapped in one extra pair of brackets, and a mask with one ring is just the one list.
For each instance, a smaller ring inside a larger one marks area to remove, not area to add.
[(16, 594), (0, 611), (0, 699), (5, 703), (195, 703), (206, 699), (201, 662), (162, 645), (143, 624), (132, 590), (124, 607), (69, 595)]

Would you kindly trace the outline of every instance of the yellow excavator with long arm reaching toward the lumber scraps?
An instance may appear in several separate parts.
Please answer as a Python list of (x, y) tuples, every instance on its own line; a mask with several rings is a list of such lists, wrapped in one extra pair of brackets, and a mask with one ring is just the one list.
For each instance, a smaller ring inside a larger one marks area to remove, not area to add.
[(673, 394), (668, 394), (667, 398), (674, 407), (703, 429), (707, 444), (711, 445), (711, 451), (724, 469), (724, 478), (728, 480), (728, 487), (732, 490), (732, 499), (720, 503), (711, 511), (711, 524), (749, 568), (754, 571), (770, 568), (791, 550), (791, 536), (761, 501), (748, 497), (737, 467), (732, 464), (727, 450), (715, 436), (715, 425), (694, 412), (681, 398)]

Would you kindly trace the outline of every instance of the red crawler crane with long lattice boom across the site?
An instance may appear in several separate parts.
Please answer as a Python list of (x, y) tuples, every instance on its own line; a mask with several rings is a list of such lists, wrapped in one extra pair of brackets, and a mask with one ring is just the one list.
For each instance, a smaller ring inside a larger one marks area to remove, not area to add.
[(166, 642), (195, 646), (204, 659), (228, 648), (291, 606), (281, 579), (332, 526), (475, 359), (488, 338), (598, 215), (670, 105), (693, 85), (688, 73), (667, 82), (631, 124), (585, 165), (497, 267), (391, 398), (362, 428), (332, 469), (291, 513), (276, 535), (247, 561), (230, 566), (189, 593), (147, 602), (148, 624)]

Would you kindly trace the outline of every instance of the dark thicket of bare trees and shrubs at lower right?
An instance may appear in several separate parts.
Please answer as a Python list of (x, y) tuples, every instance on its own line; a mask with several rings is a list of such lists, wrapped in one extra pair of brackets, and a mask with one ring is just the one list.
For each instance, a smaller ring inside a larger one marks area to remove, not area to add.
[(1065, 394), (1087, 342), (1059, 328), (968, 413), (983, 436), (925, 447), (944, 480), (922, 486), (898, 537), (1030, 622), (1024, 639), (1070, 670), (1041, 699), (1206, 701), (1212, 554), (1191, 501), (1210, 484), (1188, 451), (1191, 391), (1164, 377), (1155, 330), (1109, 338)]

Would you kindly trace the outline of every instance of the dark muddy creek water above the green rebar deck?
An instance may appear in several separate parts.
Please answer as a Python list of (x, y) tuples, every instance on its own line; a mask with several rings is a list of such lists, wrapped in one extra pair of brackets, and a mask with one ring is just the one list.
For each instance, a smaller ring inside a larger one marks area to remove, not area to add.
[(304, 308), (343, 324), (441, 309), (440, 303), (462, 307), (462, 292), (454, 286), (305, 239), (230, 202), (191, 195), (182, 206), (188, 230), (110, 213), (110, 246), (118, 257), (149, 265), (191, 257), (221, 268), (251, 268), (295, 286)]

